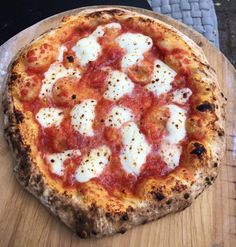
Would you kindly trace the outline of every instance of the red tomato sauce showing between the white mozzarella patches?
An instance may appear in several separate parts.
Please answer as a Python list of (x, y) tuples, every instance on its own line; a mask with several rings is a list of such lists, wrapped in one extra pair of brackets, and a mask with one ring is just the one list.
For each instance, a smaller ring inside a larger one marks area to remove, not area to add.
[[(77, 29), (74, 29), (71, 32), (71, 35), (64, 39), (63, 45), (67, 48), (67, 51), (65, 51), (63, 57), (63, 65), (65, 67), (70, 67), (71, 65), (74, 66), (75, 54), (71, 50), (72, 47), (79, 39), (88, 36), (92, 31), (94, 31), (94, 29), (81, 26)], [(129, 22), (123, 23), (122, 25), (120, 33), (125, 32), (138, 32), (148, 35), (145, 33), (145, 31), (140, 30), (137, 25)], [(152, 35), (153, 38), (155, 38), (157, 41), (163, 39), (163, 34), (161, 33), (154, 33)], [(121, 70), (121, 59), (124, 56), (125, 51), (112, 40), (107, 42), (106, 36), (99, 38), (98, 42), (102, 46), (102, 55), (100, 55), (96, 61), (89, 62), (86, 68), (80, 68), (79, 65), (76, 65), (78, 68), (82, 69), (83, 73), (81, 79), (76, 82), (78, 85), (75, 87), (75, 91), (77, 90), (79, 92), (78, 94), (75, 92), (75, 95), (85, 94), (86, 91), (87, 96), (85, 95), (85, 98), (94, 98), (98, 101), (95, 109), (96, 118), (93, 124), (93, 130), (95, 133), (94, 136), (85, 137), (78, 131), (75, 131), (72, 126), (70, 111), (75, 104), (80, 103), (80, 99), (78, 99), (78, 101), (73, 101), (74, 103), (72, 104), (60, 104), (60, 108), (64, 112), (64, 119), (60, 127), (54, 126), (43, 129), (39, 125), (40, 133), (38, 149), (44, 155), (50, 153), (59, 153), (70, 149), (79, 149), (83, 156), (92, 148), (96, 148), (104, 144), (108, 145), (112, 153), (110, 156), (109, 165), (106, 166), (99, 177), (93, 178), (93, 180), (101, 184), (111, 194), (115, 189), (121, 192), (128, 191), (135, 193), (137, 184), (141, 183), (143, 180), (147, 178), (163, 177), (170, 172), (166, 164), (158, 155), (158, 148), (161, 144), (163, 136), (166, 135), (166, 132), (159, 131), (156, 132), (155, 135), (152, 134), (152, 136), (148, 136), (147, 132), (151, 131), (153, 127), (152, 125), (142, 125), (144, 115), (152, 106), (162, 107), (170, 103), (170, 95), (174, 90), (183, 87), (190, 87), (190, 71), (186, 69), (179, 69), (178, 74), (172, 83), (173, 89), (164, 96), (156, 97), (153, 93), (147, 91), (144, 88), (144, 85), (146, 84), (145, 81), (142, 84), (136, 82), (134, 79), (135, 87), (131, 94), (125, 95), (117, 102), (106, 100), (102, 97), (102, 95), (107, 87), (107, 68), (109, 67), (113, 70)], [(184, 52), (181, 49), (168, 51), (164, 48), (153, 45), (151, 50), (144, 54), (143, 61), (146, 62), (147, 66), (150, 65), (153, 68), (154, 60), (157, 58), (165, 60), (167, 56), (173, 55), (177, 59), (182, 59), (183, 54)], [(28, 59), (30, 61), (35, 61), (37, 58), (35, 58), (35, 54), (31, 52), (28, 54)], [(188, 59), (185, 59), (184, 62), (186, 64), (189, 63)], [(27, 74), (31, 76), (36, 75), (41, 80), (44, 77), (43, 71), (36, 72), (35, 70), (28, 69)], [(135, 74), (130, 73), (131, 79), (132, 75), (135, 76)], [(22, 93), (24, 94), (27, 92), (23, 91)], [(23, 105), (26, 111), (31, 111), (34, 115), (37, 114), (37, 112), (43, 107), (58, 106), (58, 104), (54, 102), (53, 98), (50, 97), (38, 97), (33, 102), (23, 102)], [(146, 135), (149, 144), (152, 145), (152, 152), (148, 155), (147, 160), (145, 164), (143, 164), (141, 172), (138, 176), (132, 173), (127, 174), (122, 168), (119, 158), (119, 154), (122, 148), (122, 140), (119, 130), (105, 126), (105, 119), (107, 114), (114, 105), (120, 105), (131, 109), (135, 116), (134, 121), (140, 127), (141, 131)], [(189, 109), (188, 104), (184, 107), (187, 110)], [(61, 181), (64, 187), (82, 188), (82, 184), (78, 183), (74, 176), (75, 171), (81, 162), (82, 156), (72, 157), (64, 162), (65, 172), (64, 176), (62, 177), (53, 174), (48, 167), (50, 176), (53, 179)]]

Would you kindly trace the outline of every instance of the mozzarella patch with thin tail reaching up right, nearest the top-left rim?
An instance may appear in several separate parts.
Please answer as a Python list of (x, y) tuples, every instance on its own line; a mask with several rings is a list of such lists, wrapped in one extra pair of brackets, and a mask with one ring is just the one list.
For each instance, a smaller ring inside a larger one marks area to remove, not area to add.
[(104, 35), (105, 28), (118, 28), (121, 26), (119, 23), (110, 23), (104, 26), (98, 26), (96, 30), (89, 36), (80, 39), (72, 50), (75, 52), (81, 66), (86, 66), (89, 62), (95, 61), (101, 54), (102, 47), (97, 42), (99, 37)]

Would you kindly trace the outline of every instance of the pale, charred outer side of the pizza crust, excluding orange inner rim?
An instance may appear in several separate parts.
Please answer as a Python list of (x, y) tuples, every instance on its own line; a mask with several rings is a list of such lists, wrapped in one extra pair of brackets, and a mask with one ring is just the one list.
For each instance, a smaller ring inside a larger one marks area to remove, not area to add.
[[(139, 13), (118, 9), (106, 8), (84, 11), (80, 14), (99, 13), (108, 11), (114, 13), (122, 11), (127, 16), (143, 16)], [(148, 17), (149, 19), (153, 19)], [(161, 25), (170, 28), (173, 27), (153, 19)], [(186, 42), (189, 43), (196, 57), (202, 62), (203, 69), (208, 77), (212, 78), (215, 83), (215, 73), (209, 69), (209, 65), (202, 53), (202, 50), (197, 45), (189, 41), (186, 36), (177, 31)], [(8, 77), (8, 85), (11, 83), (11, 76)], [(124, 212), (107, 212), (105, 209), (98, 207), (96, 204), (88, 205), (82, 200), (76, 200), (72, 195), (66, 192), (61, 193), (55, 188), (52, 188), (48, 183), (44, 174), (40, 172), (37, 165), (34, 164), (30, 154), (30, 146), (26, 145), (22, 140), (19, 130), (22, 113), (14, 107), (13, 98), (9, 88), (6, 88), (3, 97), (4, 108), (4, 132), (6, 139), (11, 147), (15, 157), (14, 173), (18, 181), (35, 197), (58, 216), (68, 227), (75, 231), (81, 238), (101, 237), (114, 233), (124, 233), (126, 230), (135, 225), (143, 224), (161, 218), (169, 213), (177, 212), (188, 207), (194, 198), (198, 197), (205, 188), (212, 184), (218, 174), (218, 164), (224, 153), (225, 138), (224, 138), (224, 96), (220, 93), (219, 85), (216, 84), (216, 98), (219, 100), (219, 108), (216, 110), (218, 121), (215, 128), (218, 135), (215, 135), (212, 143), (210, 143), (213, 153), (213, 160), (207, 167), (201, 167), (195, 172), (196, 182), (186, 186), (180, 192), (172, 193), (171, 197), (164, 197), (162, 193), (154, 194), (155, 200), (146, 202), (138, 202), (135, 207), (128, 207)]]

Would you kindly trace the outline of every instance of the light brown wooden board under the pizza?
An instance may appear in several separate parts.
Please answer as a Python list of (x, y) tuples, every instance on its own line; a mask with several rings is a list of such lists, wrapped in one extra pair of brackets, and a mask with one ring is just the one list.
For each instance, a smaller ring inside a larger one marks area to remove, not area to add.
[[(9, 62), (20, 48), (39, 34), (56, 26), (62, 16), (74, 14), (83, 9), (50, 17), (3, 44), (0, 47), (0, 81), (5, 78)], [(203, 48), (211, 66), (217, 71), (220, 85), (228, 98), (228, 105), (226, 108), (227, 147), (216, 183), (183, 212), (136, 227), (124, 235), (118, 234), (98, 240), (81, 240), (18, 184), (12, 172), (13, 159), (3, 138), (1, 124), (0, 246), (236, 246), (236, 71), (219, 50), (184, 24), (151, 11), (131, 7), (127, 9), (165, 21), (188, 35)], [(1, 90), (2, 86), (3, 83)], [(2, 107), (0, 110), (2, 123)]]

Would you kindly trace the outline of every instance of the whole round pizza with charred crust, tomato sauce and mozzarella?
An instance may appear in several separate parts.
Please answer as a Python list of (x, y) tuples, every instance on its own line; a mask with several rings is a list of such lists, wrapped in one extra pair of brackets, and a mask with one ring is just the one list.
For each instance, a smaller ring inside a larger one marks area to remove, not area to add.
[(64, 17), (22, 49), (3, 105), (17, 179), (82, 238), (183, 210), (224, 153), (225, 97), (202, 49), (122, 8)]

